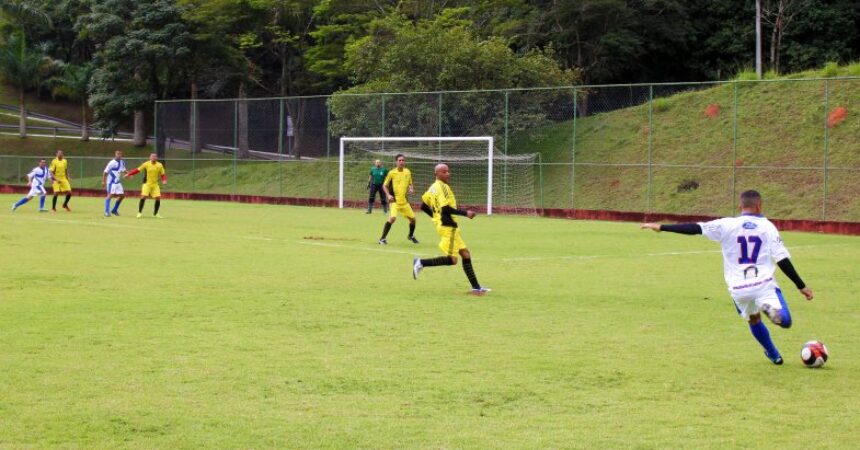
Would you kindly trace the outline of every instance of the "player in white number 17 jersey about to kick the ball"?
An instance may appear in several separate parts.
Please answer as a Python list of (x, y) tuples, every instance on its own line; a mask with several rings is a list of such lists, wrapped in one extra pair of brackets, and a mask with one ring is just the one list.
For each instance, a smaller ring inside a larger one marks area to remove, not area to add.
[(774, 279), (774, 261), (782, 272), (812, 300), (810, 289), (794, 270), (788, 250), (779, 231), (761, 214), (761, 194), (745, 191), (741, 194), (741, 215), (700, 223), (661, 225), (643, 223), (641, 228), (671, 231), (681, 234), (704, 234), (723, 248), (723, 271), (729, 294), (738, 313), (749, 322), (750, 331), (764, 347), (765, 356), (774, 364), (782, 364), (770, 332), (761, 320), (761, 313), (782, 328), (791, 327), (791, 313)]

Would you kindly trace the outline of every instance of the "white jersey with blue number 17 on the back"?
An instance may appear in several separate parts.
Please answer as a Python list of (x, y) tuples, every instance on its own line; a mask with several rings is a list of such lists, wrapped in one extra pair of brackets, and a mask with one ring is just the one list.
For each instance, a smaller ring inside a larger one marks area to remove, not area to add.
[(723, 272), (730, 292), (776, 284), (774, 261), (790, 255), (771, 221), (760, 215), (743, 214), (699, 225), (705, 237), (723, 248)]

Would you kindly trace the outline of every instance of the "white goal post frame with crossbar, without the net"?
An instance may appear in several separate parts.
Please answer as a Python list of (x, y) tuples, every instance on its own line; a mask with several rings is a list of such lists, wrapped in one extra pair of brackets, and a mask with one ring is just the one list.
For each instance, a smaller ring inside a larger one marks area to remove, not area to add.
[[(480, 159), (486, 159), (487, 161), (487, 214), (493, 213), (493, 137), (492, 136), (478, 136), (478, 137), (341, 137), (340, 138), (340, 157), (338, 163), (338, 207), (343, 208), (344, 205), (344, 178), (345, 178), (345, 168), (344, 162), (346, 161), (346, 147), (350, 145), (350, 143), (373, 143), (375, 145), (381, 145), (382, 148), (385, 148), (386, 143), (397, 143), (397, 145), (393, 145), (392, 147), (396, 148), (404, 148), (403, 144), (413, 144), (415, 146), (423, 145), (428, 146), (429, 144), (437, 143), (439, 147), (438, 155), (433, 155), (433, 158), (427, 157), (426, 160), (435, 160), (437, 163), (440, 162), (450, 162), (448, 158), (449, 154), (443, 153), (443, 143), (472, 143), (475, 149), (478, 147), (485, 150), (485, 155), (480, 155)], [(403, 153), (407, 153), (404, 151)], [(412, 155), (410, 155), (412, 157)], [(478, 158), (472, 157), (470, 158), (473, 161), (478, 160)], [(417, 189), (418, 187), (416, 187)], [(419, 193), (420, 195), (420, 193)]]

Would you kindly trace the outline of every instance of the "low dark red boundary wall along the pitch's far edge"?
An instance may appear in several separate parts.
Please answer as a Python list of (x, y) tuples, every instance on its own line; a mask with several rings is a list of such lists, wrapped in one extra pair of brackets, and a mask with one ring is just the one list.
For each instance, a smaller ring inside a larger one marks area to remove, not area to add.
[[(0, 185), (0, 194), (26, 194), (29, 189), (26, 186)], [(84, 197), (102, 197), (104, 191), (101, 189), (75, 189), (75, 195)], [(140, 195), (140, 191), (126, 191), (127, 197)], [(323, 198), (302, 197), (268, 197), (263, 195), (237, 195), (237, 194), (205, 194), (205, 193), (183, 193), (165, 192), (165, 199), (181, 200), (208, 200), (239, 203), (263, 203), (270, 205), (294, 205), (294, 206), (324, 206), (337, 207), (337, 200)], [(364, 201), (345, 201), (344, 206), (349, 208), (364, 208)], [(415, 205), (416, 207), (418, 205)], [(499, 214), (522, 214), (522, 209), (496, 208)], [(532, 210), (529, 210), (531, 212)], [(538, 209), (538, 215), (543, 217), (554, 217), (560, 219), (574, 220), (606, 220), (615, 222), (702, 222), (715, 219), (714, 216), (692, 216), (681, 214), (643, 213), (630, 211), (606, 211), (590, 209)], [(780, 230), (806, 231), (814, 233), (848, 234), (860, 235), (860, 222), (833, 222), (822, 220), (794, 220), (794, 219), (770, 219)]]

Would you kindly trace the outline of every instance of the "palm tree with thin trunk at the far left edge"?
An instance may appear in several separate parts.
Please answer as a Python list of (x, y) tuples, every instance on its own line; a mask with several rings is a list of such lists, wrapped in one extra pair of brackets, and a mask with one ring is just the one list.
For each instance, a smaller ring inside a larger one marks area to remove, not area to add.
[(27, 47), (21, 32), (15, 32), (0, 46), (0, 76), (18, 88), (19, 135), (27, 137), (27, 106), (24, 92), (36, 86), (47, 57)]

